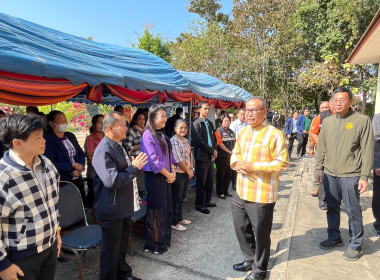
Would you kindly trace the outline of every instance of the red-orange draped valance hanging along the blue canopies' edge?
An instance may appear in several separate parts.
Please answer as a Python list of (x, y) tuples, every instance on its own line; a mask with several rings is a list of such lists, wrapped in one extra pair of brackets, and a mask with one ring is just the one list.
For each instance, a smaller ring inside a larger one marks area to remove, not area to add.
[[(194, 92), (166, 92), (166, 91), (138, 91), (106, 84), (115, 96), (129, 103), (142, 104), (156, 98), (165, 103), (169, 97), (176, 102), (190, 102), (198, 104), (208, 101), (211, 106), (227, 109), (230, 107), (244, 107), (244, 102), (209, 99)], [(51, 79), (31, 75), (15, 74), (0, 71), (0, 102), (13, 105), (42, 106), (55, 104), (73, 98), (87, 88), (87, 99), (94, 103), (101, 103), (103, 86), (99, 84), (90, 87), (87, 83), (73, 85), (66, 79)]]

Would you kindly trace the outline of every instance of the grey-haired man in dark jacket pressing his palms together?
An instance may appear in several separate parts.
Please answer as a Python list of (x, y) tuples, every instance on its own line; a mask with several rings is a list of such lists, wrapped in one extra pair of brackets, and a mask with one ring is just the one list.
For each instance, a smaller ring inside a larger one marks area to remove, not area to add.
[(121, 140), (127, 126), (119, 112), (108, 113), (103, 120), (104, 138), (95, 149), (92, 159), (94, 171), (94, 208), (102, 228), (100, 252), (101, 280), (138, 280), (125, 261), (131, 232), (131, 216), (139, 209), (136, 177), (147, 163), (147, 155), (140, 153), (129, 158)]

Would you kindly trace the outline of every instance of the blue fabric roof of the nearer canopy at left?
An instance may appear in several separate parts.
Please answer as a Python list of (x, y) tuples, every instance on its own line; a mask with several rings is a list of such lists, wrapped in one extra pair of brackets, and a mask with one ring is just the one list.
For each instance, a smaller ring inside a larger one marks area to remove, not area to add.
[(188, 82), (147, 51), (79, 38), (0, 13), (3, 71), (159, 91), (189, 90)]

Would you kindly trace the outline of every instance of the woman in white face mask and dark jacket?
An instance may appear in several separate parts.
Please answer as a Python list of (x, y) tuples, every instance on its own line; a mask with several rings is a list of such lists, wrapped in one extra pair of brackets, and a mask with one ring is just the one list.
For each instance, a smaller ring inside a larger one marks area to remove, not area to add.
[(82, 172), (85, 155), (74, 134), (67, 132), (67, 119), (61, 111), (53, 110), (47, 115), (45, 156), (57, 168), (61, 181), (72, 182), (79, 189), (85, 202)]

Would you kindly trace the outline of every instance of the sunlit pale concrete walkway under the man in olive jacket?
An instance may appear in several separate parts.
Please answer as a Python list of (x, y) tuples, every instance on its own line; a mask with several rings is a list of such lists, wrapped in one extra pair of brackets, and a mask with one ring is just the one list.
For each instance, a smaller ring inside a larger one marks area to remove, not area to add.
[(379, 279), (380, 241), (372, 232), (372, 185), (361, 195), (364, 256), (354, 262), (345, 261), (342, 255), (349, 242), (345, 212), (341, 212), (345, 246), (327, 251), (318, 247), (327, 238), (327, 221), (326, 211), (320, 210), (318, 199), (310, 195), (313, 170), (314, 158), (303, 158), (298, 164), (270, 279)]

